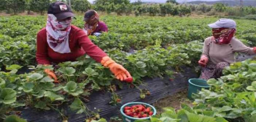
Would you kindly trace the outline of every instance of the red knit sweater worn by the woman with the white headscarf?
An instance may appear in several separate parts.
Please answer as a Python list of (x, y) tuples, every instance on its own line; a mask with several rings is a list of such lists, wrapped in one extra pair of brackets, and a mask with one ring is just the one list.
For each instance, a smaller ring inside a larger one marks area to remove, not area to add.
[(69, 48), (71, 53), (55, 52), (47, 43), (46, 29), (40, 30), (36, 37), (36, 61), (38, 64), (51, 64), (51, 62), (75, 61), (76, 58), (85, 53), (92, 57), (97, 62), (100, 62), (102, 57), (107, 56), (103, 50), (94, 45), (88, 36), (74, 25), (71, 25), (69, 33)]

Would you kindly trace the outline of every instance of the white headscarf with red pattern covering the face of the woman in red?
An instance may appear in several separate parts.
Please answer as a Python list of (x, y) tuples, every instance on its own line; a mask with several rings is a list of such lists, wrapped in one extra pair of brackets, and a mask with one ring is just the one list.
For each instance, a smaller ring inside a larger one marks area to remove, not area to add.
[(53, 14), (48, 14), (46, 24), (47, 43), (51, 49), (58, 53), (70, 53), (69, 33), (72, 20), (59, 22)]

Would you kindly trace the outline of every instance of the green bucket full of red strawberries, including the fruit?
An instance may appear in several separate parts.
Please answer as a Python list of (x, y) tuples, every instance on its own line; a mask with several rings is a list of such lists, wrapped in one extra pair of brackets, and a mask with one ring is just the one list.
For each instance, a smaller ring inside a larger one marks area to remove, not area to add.
[(123, 116), (123, 122), (150, 119), (150, 116), (156, 115), (155, 107), (144, 102), (126, 103), (121, 107), (120, 111)]

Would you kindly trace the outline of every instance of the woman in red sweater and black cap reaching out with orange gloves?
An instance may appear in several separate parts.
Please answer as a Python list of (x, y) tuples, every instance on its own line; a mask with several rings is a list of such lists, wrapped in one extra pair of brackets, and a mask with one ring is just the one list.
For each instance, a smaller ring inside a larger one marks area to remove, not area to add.
[[(38, 64), (50, 65), (52, 62), (75, 61), (76, 58), (88, 54), (109, 68), (118, 80), (131, 79), (131, 75), (123, 66), (94, 45), (84, 31), (70, 24), (74, 15), (68, 5), (62, 2), (52, 3), (47, 13), (46, 28), (40, 30), (36, 38)], [(46, 69), (45, 72), (58, 82), (53, 71)]]

